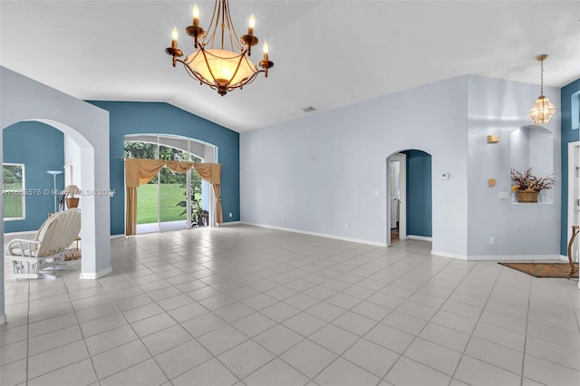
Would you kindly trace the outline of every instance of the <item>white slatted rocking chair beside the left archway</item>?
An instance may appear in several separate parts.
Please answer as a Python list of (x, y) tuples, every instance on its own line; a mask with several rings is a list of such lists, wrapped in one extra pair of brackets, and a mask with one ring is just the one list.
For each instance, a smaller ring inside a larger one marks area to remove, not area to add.
[(34, 239), (15, 238), (6, 246), (5, 260), (12, 261), (14, 279), (53, 278), (41, 274), (48, 269), (62, 269), (64, 256), (81, 232), (81, 210), (73, 207), (55, 213), (44, 221)]

